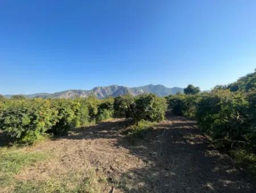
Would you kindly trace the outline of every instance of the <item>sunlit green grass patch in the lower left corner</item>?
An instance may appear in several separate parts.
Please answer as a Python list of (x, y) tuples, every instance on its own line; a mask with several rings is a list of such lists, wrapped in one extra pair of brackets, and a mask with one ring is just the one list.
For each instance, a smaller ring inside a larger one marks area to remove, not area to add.
[(0, 149), (0, 187), (7, 187), (14, 182), (14, 175), (25, 166), (45, 160), (47, 153), (27, 152), (21, 148)]

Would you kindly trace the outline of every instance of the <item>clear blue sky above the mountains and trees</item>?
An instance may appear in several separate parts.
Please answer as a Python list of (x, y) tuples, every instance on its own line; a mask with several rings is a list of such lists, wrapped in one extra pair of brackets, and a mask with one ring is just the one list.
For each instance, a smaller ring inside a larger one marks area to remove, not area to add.
[(208, 90), (254, 68), (255, 0), (0, 0), (1, 94)]

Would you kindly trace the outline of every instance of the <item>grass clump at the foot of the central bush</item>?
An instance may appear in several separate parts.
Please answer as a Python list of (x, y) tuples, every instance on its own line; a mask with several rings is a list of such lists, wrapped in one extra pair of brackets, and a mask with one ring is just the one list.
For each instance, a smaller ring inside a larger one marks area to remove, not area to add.
[(138, 124), (131, 125), (128, 130), (128, 136), (131, 138), (143, 139), (146, 133), (153, 129), (155, 122), (141, 120)]

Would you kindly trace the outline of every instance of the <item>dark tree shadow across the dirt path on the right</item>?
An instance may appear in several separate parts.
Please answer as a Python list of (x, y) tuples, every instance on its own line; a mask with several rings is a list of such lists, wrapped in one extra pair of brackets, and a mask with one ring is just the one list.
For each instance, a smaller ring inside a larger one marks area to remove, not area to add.
[(255, 182), (236, 169), (229, 156), (209, 147), (195, 121), (168, 116), (133, 144), (121, 132), (128, 124), (125, 119), (107, 121), (62, 138), (116, 139), (115, 146), (138, 157), (144, 164), (118, 177), (109, 173), (115, 186), (127, 192), (255, 192)]

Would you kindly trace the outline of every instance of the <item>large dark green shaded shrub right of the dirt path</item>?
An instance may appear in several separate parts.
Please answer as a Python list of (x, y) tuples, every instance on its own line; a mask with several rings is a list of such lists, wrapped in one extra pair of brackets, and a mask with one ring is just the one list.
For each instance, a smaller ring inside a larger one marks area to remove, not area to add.
[(216, 90), (205, 95), (197, 106), (199, 126), (213, 139), (245, 140), (248, 102), (242, 93)]

